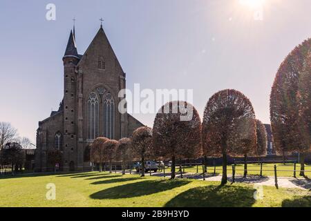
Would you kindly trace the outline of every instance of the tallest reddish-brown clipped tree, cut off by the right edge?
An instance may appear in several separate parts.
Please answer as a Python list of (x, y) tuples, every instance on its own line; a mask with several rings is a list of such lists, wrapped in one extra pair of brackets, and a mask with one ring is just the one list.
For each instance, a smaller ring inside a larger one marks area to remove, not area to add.
[(281, 64), (270, 95), (274, 146), (279, 155), (311, 151), (311, 39), (294, 48)]

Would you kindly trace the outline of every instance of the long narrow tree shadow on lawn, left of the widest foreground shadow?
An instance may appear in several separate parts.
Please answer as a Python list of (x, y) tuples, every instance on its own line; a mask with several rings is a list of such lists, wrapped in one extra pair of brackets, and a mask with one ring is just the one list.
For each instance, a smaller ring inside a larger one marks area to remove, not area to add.
[(187, 180), (147, 180), (104, 189), (90, 195), (92, 199), (134, 198), (174, 189), (188, 184)]

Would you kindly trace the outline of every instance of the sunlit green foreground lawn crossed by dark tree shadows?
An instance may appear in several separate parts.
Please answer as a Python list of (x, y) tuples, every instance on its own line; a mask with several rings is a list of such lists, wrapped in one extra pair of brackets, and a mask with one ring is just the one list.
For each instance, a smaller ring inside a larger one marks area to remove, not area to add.
[[(46, 200), (46, 184), (56, 200)], [(308, 191), (263, 187), (254, 200), (250, 184), (167, 180), (109, 173), (0, 177), (0, 206), (311, 206)]]

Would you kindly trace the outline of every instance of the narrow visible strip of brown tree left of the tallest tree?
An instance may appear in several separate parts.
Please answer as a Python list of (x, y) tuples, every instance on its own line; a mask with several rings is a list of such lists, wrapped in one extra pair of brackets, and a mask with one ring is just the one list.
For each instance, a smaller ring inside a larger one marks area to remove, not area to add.
[(265, 130), (265, 125), (259, 119), (256, 119), (256, 134), (256, 155), (258, 162), (260, 162), (260, 157), (267, 155), (267, 131)]

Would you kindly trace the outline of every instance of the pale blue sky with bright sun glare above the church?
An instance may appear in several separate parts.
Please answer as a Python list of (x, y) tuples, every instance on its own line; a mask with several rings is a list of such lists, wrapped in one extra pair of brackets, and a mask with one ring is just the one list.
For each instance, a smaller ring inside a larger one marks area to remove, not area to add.
[[(55, 4), (55, 20), (46, 6)], [(35, 142), (38, 122), (63, 97), (62, 57), (75, 17), (83, 54), (100, 28), (126, 87), (193, 89), (200, 113), (218, 90), (240, 90), (270, 123), (271, 86), (289, 52), (311, 37), (310, 0), (106, 0), (0, 2), (0, 122)], [(134, 114), (153, 125), (155, 114)]]

